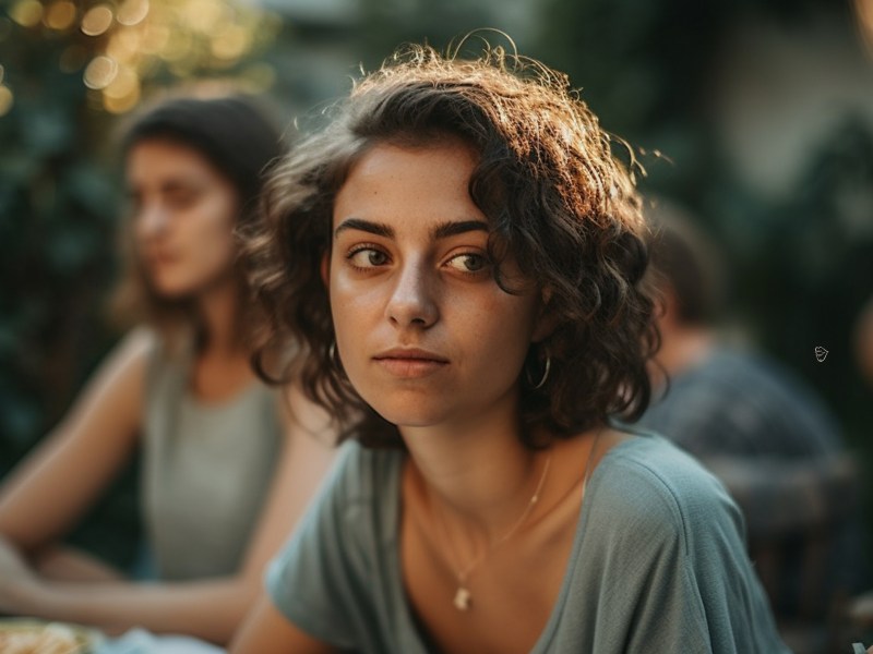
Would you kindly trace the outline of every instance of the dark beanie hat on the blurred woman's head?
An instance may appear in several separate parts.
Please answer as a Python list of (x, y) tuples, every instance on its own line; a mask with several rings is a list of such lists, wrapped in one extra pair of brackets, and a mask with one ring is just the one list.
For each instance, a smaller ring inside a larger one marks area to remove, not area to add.
[(236, 185), (249, 208), (265, 171), (282, 154), (279, 131), (241, 96), (165, 100), (134, 120), (124, 133), (123, 152), (147, 138), (168, 138), (202, 154)]

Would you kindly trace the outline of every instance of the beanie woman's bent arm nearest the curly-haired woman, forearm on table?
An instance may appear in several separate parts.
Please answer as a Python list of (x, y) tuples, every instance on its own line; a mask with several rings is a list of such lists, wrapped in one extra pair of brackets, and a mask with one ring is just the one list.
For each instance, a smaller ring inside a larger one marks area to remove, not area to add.
[(288, 537), (334, 457), (333, 443), (324, 435), (326, 416), (296, 391), (289, 399), (294, 419), (286, 420), (282, 460), (238, 574), (154, 584), (50, 583), (17, 576), (15, 588), (3, 590), (0, 582), (0, 605), (3, 594), (7, 604), (13, 595), (16, 610), (31, 616), (95, 625), (109, 632), (139, 626), (226, 643), (259, 595), (266, 562)]

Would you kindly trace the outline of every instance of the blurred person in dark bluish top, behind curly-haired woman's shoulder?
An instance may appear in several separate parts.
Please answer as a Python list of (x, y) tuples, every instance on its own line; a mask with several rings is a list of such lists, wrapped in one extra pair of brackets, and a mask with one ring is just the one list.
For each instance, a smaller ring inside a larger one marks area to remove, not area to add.
[(857, 463), (814, 391), (719, 326), (725, 269), (695, 219), (668, 201), (649, 218), (661, 348), (639, 425), (721, 479), (786, 641), (823, 652), (834, 611), (866, 579)]

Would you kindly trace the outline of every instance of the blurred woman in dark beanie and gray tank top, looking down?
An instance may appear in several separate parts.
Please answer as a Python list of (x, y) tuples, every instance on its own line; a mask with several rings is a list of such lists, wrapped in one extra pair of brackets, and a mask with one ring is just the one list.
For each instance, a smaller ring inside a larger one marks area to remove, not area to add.
[[(252, 302), (235, 230), (255, 216), (279, 134), (241, 97), (176, 98), (124, 140), (133, 330), (0, 488), (0, 613), (225, 642), (331, 459), (326, 424), (250, 366)], [(290, 400), (290, 401), (286, 401)], [(323, 439), (322, 439), (323, 440)], [(157, 580), (59, 540), (143, 451)]]

